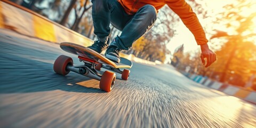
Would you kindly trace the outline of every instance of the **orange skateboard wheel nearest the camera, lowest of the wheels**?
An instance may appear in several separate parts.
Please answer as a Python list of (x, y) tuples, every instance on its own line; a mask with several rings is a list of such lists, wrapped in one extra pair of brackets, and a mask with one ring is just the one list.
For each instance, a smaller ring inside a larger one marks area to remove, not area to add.
[(100, 89), (110, 92), (115, 84), (116, 74), (110, 71), (105, 71), (100, 79)]

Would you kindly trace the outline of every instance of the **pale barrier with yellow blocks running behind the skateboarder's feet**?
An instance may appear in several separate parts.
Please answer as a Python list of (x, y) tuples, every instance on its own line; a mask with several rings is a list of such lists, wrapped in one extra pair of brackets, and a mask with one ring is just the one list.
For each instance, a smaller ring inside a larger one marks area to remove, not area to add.
[[(66, 28), (26, 7), (10, 1), (0, 1), (0, 28), (11, 29), (22, 35), (36, 37), (52, 43), (73, 42), (83, 46), (92, 45), (93, 41), (76, 31)], [(143, 60), (133, 54), (121, 53), (121, 57), (135, 62), (156, 65), (155, 62)]]

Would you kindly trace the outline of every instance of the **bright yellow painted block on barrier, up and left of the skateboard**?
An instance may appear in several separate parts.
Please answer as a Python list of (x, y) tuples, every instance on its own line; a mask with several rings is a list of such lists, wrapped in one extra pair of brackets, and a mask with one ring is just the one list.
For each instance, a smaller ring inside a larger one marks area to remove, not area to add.
[(56, 42), (55, 31), (53, 24), (47, 20), (33, 15), (35, 36), (44, 39), (45, 41)]

